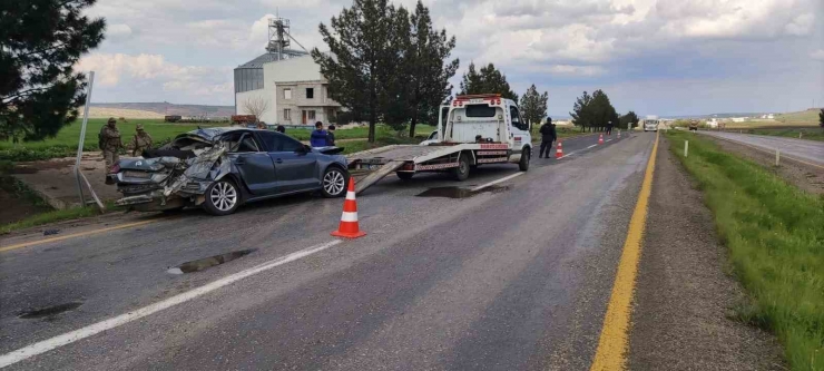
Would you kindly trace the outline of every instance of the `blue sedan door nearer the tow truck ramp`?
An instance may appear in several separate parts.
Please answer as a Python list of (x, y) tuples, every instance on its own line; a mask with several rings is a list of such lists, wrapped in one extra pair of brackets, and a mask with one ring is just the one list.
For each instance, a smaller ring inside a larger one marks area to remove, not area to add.
[(277, 192), (292, 193), (317, 189), (321, 179), (317, 175), (317, 156), (302, 143), (274, 131), (258, 131), (266, 144), (268, 156), (277, 173)]

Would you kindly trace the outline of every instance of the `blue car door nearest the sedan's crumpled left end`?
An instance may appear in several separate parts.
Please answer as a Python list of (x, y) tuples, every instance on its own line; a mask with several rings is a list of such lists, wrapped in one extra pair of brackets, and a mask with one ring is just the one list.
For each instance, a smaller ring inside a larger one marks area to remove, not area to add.
[(229, 160), (252, 195), (265, 196), (277, 192), (275, 166), (252, 131), (230, 133), (224, 140), (229, 144)]

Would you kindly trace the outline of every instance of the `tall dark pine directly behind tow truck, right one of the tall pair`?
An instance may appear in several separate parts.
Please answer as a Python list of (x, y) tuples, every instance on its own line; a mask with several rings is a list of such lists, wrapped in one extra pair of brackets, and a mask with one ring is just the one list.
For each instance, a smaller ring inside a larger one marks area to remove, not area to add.
[(455, 47), (455, 38), (447, 37), (447, 30), (434, 29), (429, 9), (421, 0), (418, 0), (410, 25), (409, 79), (405, 84), (411, 89), (409, 136), (413, 137), (415, 124), (438, 120), (438, 108), (452, 91), (449, 79), (455, 75), (459, 60), (447, 61)]

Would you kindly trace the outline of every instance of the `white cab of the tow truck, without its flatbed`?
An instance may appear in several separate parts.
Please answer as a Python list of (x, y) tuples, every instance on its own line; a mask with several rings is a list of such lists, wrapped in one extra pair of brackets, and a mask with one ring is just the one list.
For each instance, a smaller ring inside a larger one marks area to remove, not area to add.
[(511, 150), (509, 160), (518, 163), (521, 153), (532, 148), (529, 126), (518, 105), (499, 94), (458, 96), (441, 106), (438, 141), (506, 144)]

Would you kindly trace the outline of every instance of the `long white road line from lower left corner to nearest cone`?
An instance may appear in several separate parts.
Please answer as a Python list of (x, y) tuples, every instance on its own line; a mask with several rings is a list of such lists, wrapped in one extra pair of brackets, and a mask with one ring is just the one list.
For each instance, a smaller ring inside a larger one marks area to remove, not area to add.
[(230, 274), (228, 276), (225, 276), (220, 280), (217, 280), (215, 282), (212, 282), (207, 285), (197, 287), (192, 291), (187, 291), (182, 294), (177, 294), (175, 296), (171, 296), (169, 299), (166, 299), (164, 301), (157, 302), (155, 304), (144, 306), (141, 309), (135, 310), (133, 312), (128, 312), (126, 314), (120, 314), (115, 318), (110, 318), (108, 320), (100, 321), (98, 323), (85, 326), (82, 329), (78, 329), (71, 332), (67, 332), (62, 335), (58, 335), (48, 340), (43, 340), (37, 343), (33, 343), (29, 346), (18, 349), (16, 351), (6, 353), (3, 355), (0, 355), (0, 368), (4, 368), (7, 365), (14, 364), (17, 362), (20, 362), (22, 360), (29, 359), (31, 357), (46, 353), (48, 351), (58, 349), (60, 346), (73, 343), (78, 340), (82, 340), (89, 336), (92, 336), (95, 334), (98, 334), (100, 332), (104, 332), (106, 330), (111, 330), (117, 326), (124, 325), (126, 323), (129, 323), (135, 320), (139, 320), (141, 318), (145, 318), (147, 315), (151, 315), (154, 313), (160, 312), (163, 310), (173, 307), (178, 304), (183, 304), (185, 302), (188, 302), (193, 299), (197, 299), (198, 296), (203, 296), (209, 292), (213, 292), (217, 289), (230, 285), (237, 281), (241, 281), (243, 279), (253, 276), (255, 274), (268, 271), (271, 269), (274, 269), (276, 266), (294, 262), (296, 260), (306, 257), (308, 255), (312, 255), (314, 253), (318, 253), (321, 251), (324, 251), (326, 248), (330, 248), (334, 245), (340, 244), (341, 240), (334, 240), (330, 241), (325, 244), (315, 245), (312, 247), (307, 247), (304, 250), (301, 250), (298, 252), (281, 256), (278, 258), (275, 258), (273, 261), (269, 261), (267, 263), (263, 263), (261, 265), (251, 267), (245, 271), (237, 272), (235, 274)]

